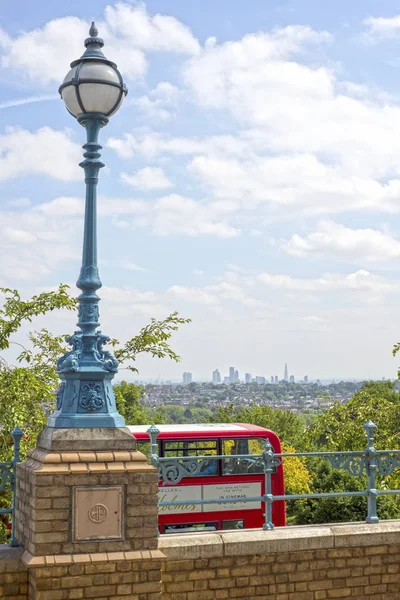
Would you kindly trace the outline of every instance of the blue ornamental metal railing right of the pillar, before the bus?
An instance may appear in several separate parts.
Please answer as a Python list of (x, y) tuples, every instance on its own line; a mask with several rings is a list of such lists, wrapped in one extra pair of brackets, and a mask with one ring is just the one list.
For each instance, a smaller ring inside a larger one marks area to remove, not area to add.
[[(272, 505), (278, 500), (301, 500), (307, 498), (335, 498), (342, 496), (364, 496), (367, 498), (367, 523), (378, 523), (377, 498), (381, 495), (400, 494), (400, 489), (382, 490), (376, 488), (376, 477), (388, 476), (400, 467), (400, 450), (376, 450), (374, 447), (374, 431), (376, 425), (368, 421), (364, 425), (367, 436), (367, 447), (365, 450), (357, 452), (296, 452), (296, 453), (275, 453), (271, 443), (266, 440), (265, 448), (262, 454), (235, 454), (232, 455), (212, 455), (212, 456), (182, 456), (182, 457), (160, 457), (158, 455), (157, 437), (160, 433), (155, 425), (148, 430), (151, 443), (151, 464), (158, 469), (159, 481), (162, 485), (178, 485), (184, 477), (204, 476), (204, 468), (211, 461), (226, 460), (236, 461), (237, 465), (252, 465), (253, 473), (264, 474), (265, 493), (260, 496), (241, 497), (240, 502), (264, 502), (265, 515), (263, 528), (270, 530), (274, 528), (272, 520)], [(301, 457), (320, 457), (329, 461), (334, 469), (344, 469), (352, 476), (367, 477), (367, 489), (356, 492), (330, 492), (315, 494), (282, 494), (274, 495), (272, 493), (272, 474), (278, 466), (284, 463), (285, 458)], [(258, 469), (255, 471), (255, 469)], [(239, 471), (240, 472), (240, 471)], [(239, 474), (239, 473), (237, 473)], [(197, 506), (203, 504), (229, 504), (238, 502), (237, 498), (213, 498), (202, 500), (179, 500), (162, 501), (158, 503), (159, 508), (179, 506)]]

